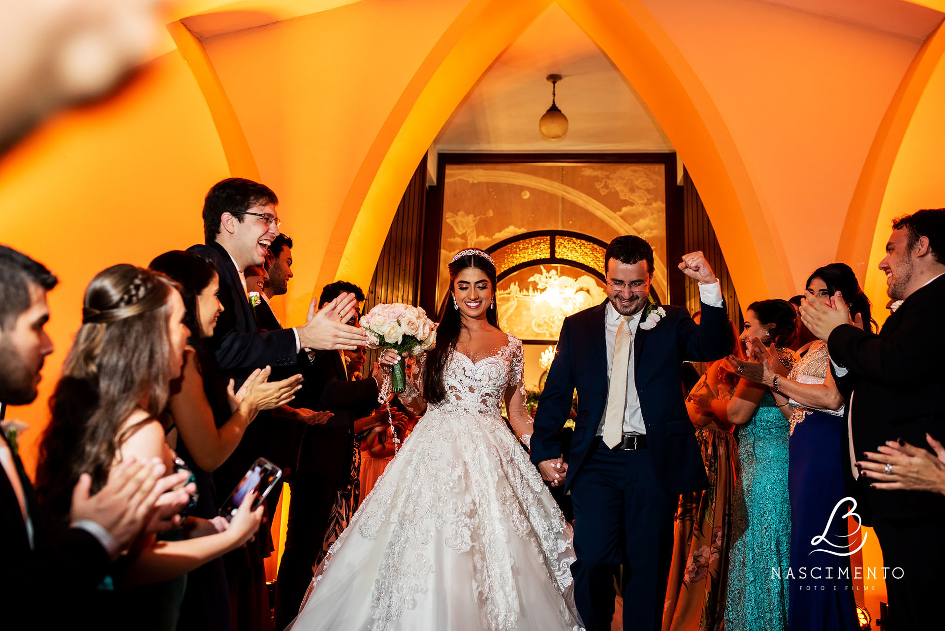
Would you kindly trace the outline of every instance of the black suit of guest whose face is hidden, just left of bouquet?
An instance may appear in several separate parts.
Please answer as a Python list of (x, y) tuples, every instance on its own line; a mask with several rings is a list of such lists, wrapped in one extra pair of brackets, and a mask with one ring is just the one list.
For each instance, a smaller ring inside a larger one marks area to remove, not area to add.
[(330, 410), (335, 416), (323, 424), (302, 428), (298, 463), (288, 481), (292, 501), (276, 582), (278, 628), (299, 613), (305, 589), (312, 582), (312, 567), (322, 547), (338, 488), (349, 483), (353, 422), (377, 406), (378, 396), (373, 379), (348, 381), (337, 350), (317, 351), (303, 374), (306, 387), (300, 391), (301, 404)]

